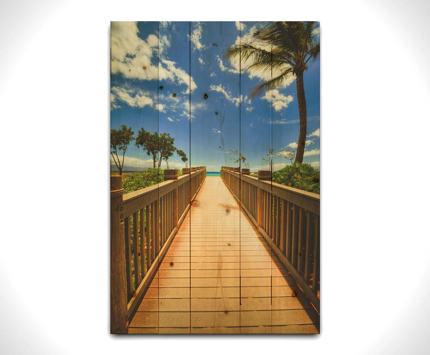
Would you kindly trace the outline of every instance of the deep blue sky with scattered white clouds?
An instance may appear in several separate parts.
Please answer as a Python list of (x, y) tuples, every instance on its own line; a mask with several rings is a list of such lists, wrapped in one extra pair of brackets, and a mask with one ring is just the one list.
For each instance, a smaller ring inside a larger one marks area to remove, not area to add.
[[(240, 68), (238, 61), (224, 58), (230, 46), (252, 40), (257, 25), (112, 22), (111, 128), (125, 124), (132, 127), (135, 136), (141, 127), (168, 132), (175, 138), (175, 146), (187, 153), (192, 166), (206, 165), (208, 171), (218, 171), (221, 165), (239, 166), (228, 154), (233, 147), (240, 148), (252, 171), (268, 168), (262, 160), (266, 144), (275, 153), (297, 144), (295, 78), (251, 100), (252, 88), (270, 79), (270, 71), (245, 71), (249, 63), (242, 63)], [(304, 162), (319, 168), (319, 60), (305, 71), (304, 88), (308, 134)], [(286, 163), (289, 160), (274, 155), (274, 170)], [(152, 167), (152, 159), (133, 142), (124, 165)], [(176, 153), (169, 165), (185, 167)], [(162, 167), (166, 167), (165, 162)]]

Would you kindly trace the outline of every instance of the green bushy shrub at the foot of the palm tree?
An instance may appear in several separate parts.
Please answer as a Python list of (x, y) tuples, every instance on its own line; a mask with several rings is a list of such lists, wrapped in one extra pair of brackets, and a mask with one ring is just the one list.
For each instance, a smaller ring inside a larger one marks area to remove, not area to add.
[(307, 163), (295, 162), (275, 171), (272, 181), (296, 189), (319, 194), (319, 170)]

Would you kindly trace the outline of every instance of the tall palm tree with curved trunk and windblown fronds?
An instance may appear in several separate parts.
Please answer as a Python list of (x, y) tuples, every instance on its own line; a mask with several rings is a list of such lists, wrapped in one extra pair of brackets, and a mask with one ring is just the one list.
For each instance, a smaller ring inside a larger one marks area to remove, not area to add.
[(227, 50), (225, 57), (251, 60), (246, 70), (276, 70), (280, 74), (256, 86), (250, 96), (256, 98), (264, 91), (281, 87), (290, 75), (295, 75), (299, 110), (300, 132), (298, 135), (295, 162), (303, 162), (306, 142), (306, 98), (304, 95), (303, 72), (310, 60), (319, 57), (319, 42), (315, 42), (316, 21), (267, 22), (252, 36), (257, 43), (241, 43)]

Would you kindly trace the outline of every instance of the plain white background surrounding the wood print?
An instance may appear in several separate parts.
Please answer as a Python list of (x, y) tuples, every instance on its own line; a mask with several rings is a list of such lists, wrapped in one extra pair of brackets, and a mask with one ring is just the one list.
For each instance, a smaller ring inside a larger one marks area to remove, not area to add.
[[(428, 15), (398, 0), (2, 1), (0, 352), (425, 353)], [(111, 336), (109, 22), (298, 19), (321, 21), (321, 335)]]

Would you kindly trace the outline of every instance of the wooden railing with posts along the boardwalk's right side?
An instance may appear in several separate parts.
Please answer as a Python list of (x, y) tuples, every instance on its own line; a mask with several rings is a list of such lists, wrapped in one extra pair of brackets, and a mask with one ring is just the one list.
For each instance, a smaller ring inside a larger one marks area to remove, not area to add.
[(254, 178), (222, 167), (221, 178), (319, 311), (319, 195), (273, 183), (266, 170)]

